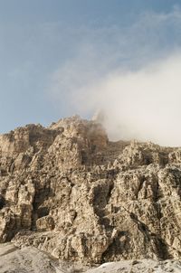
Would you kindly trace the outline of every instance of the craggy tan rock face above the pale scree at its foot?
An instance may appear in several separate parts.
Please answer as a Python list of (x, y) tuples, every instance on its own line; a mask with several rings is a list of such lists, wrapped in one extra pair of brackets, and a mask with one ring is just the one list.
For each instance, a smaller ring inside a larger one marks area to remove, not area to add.
[(0, 242), (101, 263), (181, 258), (181, 148), (63, 118), (0, 136)]

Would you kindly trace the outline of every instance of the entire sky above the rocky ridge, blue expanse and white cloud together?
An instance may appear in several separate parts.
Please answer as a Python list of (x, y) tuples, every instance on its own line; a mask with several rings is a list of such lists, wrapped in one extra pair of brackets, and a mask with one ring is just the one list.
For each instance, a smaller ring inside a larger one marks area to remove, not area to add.
[(180, 1), (0, 0), (0, 133), (102, 110), (112, 139), (181, 146), (180, 48)]

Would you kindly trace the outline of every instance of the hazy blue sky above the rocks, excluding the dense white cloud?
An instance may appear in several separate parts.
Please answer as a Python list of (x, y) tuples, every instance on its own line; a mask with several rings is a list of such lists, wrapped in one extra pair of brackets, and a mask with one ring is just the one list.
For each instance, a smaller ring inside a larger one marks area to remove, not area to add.
[(175, 0), (0, 0), (0, 132), (90, 117), (77, 90), (179, 51), (180, 8)]

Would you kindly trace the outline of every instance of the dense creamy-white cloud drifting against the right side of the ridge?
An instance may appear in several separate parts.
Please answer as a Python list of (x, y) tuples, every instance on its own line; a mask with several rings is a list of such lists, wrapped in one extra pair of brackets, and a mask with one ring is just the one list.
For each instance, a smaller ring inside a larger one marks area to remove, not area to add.
[(111, 139), (181, 146), (181, 54), (140, 71), (115, 72), (79, 93), (82, 113), (101, 109)]

